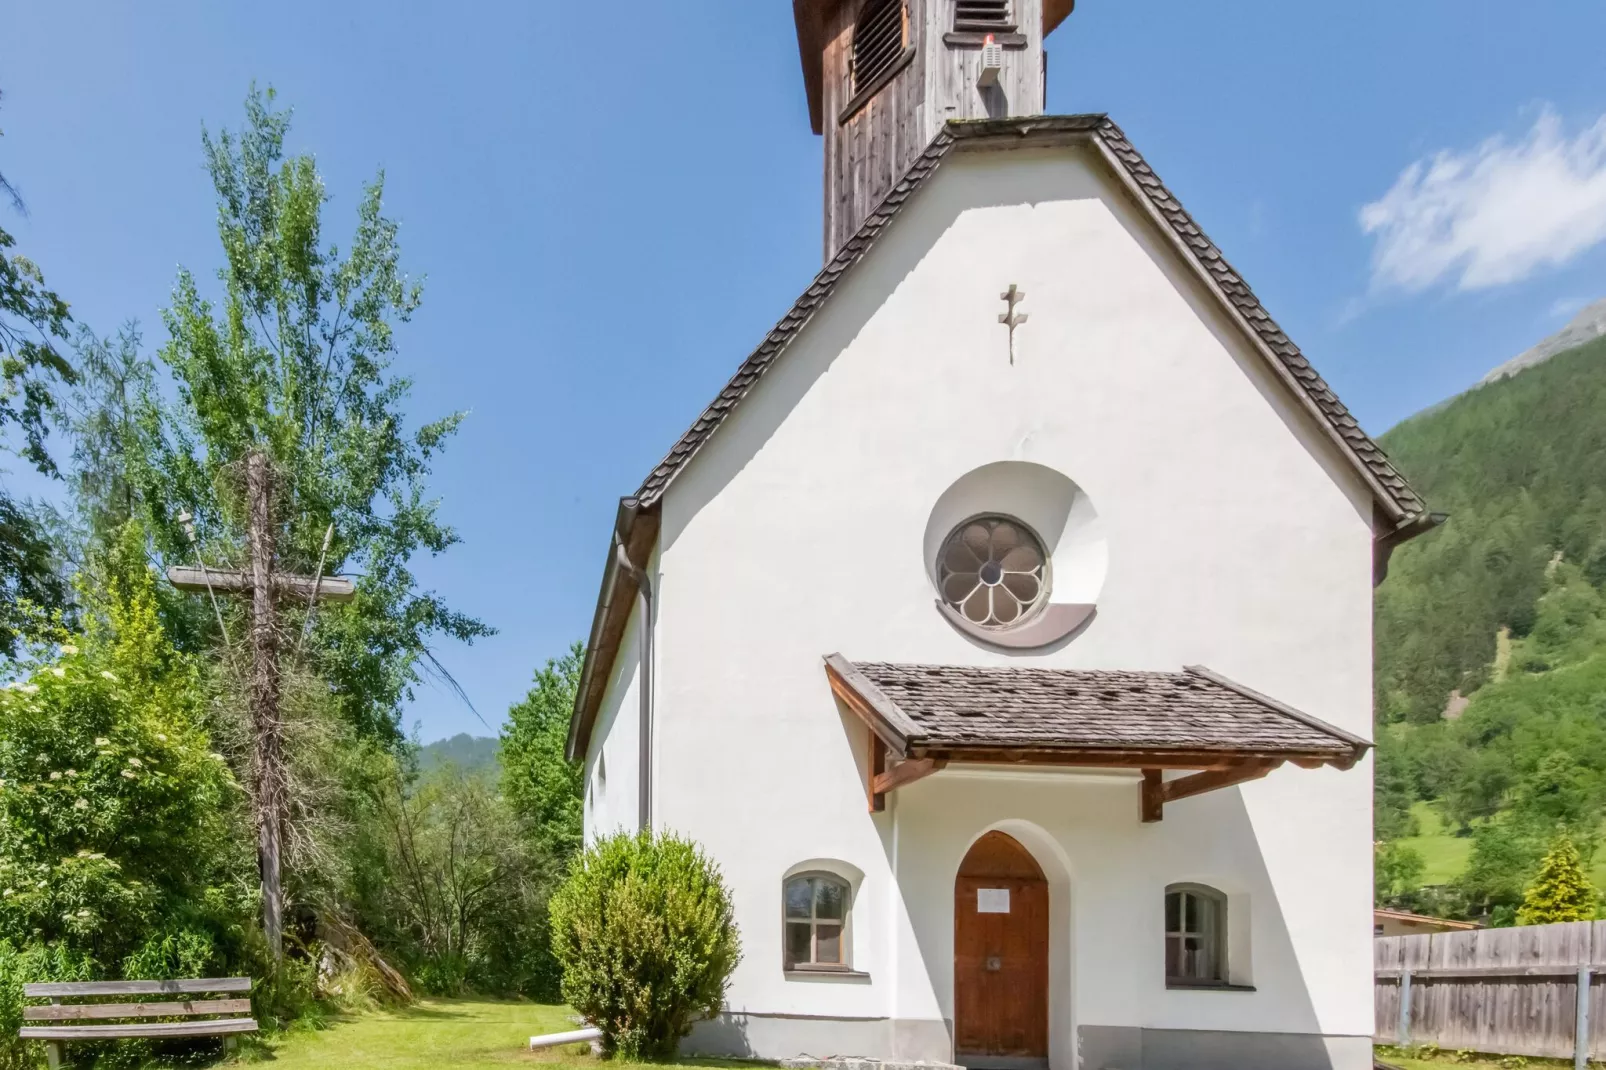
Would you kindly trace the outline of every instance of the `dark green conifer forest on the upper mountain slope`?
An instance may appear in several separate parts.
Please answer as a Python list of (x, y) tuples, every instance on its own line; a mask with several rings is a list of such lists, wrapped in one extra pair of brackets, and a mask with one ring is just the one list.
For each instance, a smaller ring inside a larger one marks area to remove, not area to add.
[(1606, 339), (1413, 416), (1381, 445), (1450, 521), (1378, 590), (1381, 721), (1433, 721), (1534, 625), (1556, 553), (1606, 585)]

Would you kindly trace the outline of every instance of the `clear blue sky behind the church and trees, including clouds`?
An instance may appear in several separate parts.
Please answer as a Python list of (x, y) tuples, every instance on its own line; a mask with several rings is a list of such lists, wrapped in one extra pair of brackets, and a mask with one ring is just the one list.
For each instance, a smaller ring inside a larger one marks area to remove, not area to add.
[[(1081, 0), (1049, 111), (1108, 111), (1381, 432), (1606, 296), (1601, 40), (1598, 0)], [(215, 270), (199, 133), (252, 79), (326, 233), (384, 167), (427, 276), (411, 411), (471, 416), (434, 477), (464, 545), (418, 570), (499, 628), (440, 651), (495, 726), (583, 638), (618, 496), (819, 267), (790, 5), (13, 0), (0, 212), (79, 320), (154, 350), (178, 265)], [(487, 731), (427, 684), (406, 720)]]

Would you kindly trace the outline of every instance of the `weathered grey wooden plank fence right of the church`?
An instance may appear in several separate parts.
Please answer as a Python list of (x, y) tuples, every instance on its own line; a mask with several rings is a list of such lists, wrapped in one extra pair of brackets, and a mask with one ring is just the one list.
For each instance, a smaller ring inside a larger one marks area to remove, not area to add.
[(1380, 1044), (1606, 1057), (1606, 921), (1378, 937), (1375, 964)]

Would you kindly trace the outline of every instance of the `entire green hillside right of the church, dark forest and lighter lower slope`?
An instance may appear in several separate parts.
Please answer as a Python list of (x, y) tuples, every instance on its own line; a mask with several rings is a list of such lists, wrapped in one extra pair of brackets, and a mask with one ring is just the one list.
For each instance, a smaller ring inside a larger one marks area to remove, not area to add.
[(1376, 598), (1380, 895), (1502, 917), (1606, 815), (1606, 339), (1381, 442), (1450, 521)]

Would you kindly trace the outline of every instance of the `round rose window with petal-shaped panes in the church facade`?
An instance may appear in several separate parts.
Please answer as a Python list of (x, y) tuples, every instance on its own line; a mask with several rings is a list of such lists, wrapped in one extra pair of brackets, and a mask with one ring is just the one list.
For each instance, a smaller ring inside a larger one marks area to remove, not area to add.
[(943, 601), (983, 628), (1007, 628), (1042, 604), (1049, 556), (1023, 524), (1002, 516), (965, 521), (943, 543)]

